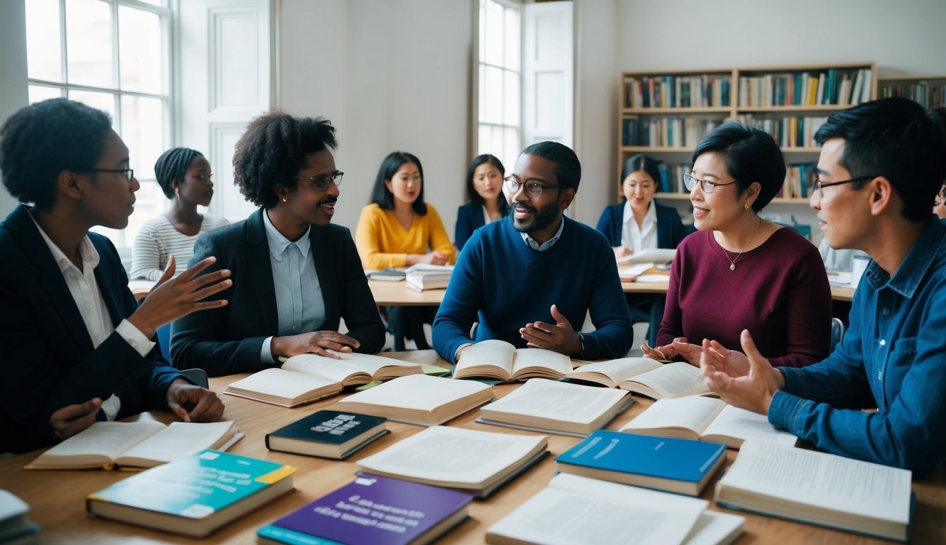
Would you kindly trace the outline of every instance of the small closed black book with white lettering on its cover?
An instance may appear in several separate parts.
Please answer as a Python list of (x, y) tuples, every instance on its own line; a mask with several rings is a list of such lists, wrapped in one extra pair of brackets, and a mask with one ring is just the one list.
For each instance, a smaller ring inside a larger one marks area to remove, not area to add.
[(266, 448), (341, 460), (387, 433), (387, 418), (340, 411), (312, 413), (266, 434)]

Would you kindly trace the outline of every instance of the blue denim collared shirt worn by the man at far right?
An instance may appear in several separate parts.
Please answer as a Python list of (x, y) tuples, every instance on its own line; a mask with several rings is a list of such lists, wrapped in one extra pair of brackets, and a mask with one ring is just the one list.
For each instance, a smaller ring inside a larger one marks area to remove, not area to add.
[[(827, 360), (780, 368), (773, 425), (835, 454), (923, 474), (946, 456), (946, 227), (931, 220), (891, 278), (871, 261)], [(876, 413), (864, 413), (875, 405)]]

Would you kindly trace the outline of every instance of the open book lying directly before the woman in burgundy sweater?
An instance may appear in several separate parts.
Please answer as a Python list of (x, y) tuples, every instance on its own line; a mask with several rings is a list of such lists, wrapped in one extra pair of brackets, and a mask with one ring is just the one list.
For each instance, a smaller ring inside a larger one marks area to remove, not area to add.
[(597, 382), (655, 399), (710, 393), (700, 377), (699, 367), (685, 361), (660, 363), (647, 358), (599, 361), (575, 369), (566, 378)]

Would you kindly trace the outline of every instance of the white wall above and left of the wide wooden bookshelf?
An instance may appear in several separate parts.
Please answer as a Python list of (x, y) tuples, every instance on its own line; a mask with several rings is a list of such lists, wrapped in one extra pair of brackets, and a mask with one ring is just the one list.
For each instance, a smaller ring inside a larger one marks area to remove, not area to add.
[[(622, 70), (876, 62), (881, 76), (946, 74), (943, 0), (575, 0), (586, 171), (578, 216), (615, 202)], [(611, 36), (616, 36), (616, 40)], [(613, 49), (608, 54), (606, 49)], [(594, 79), (589, 75), (594, 75)], [(592, 189), (598, 184), (600, 189)], [(767, 207), (768, 211), (769, 208)], [(805, 211), (772, 205), (771, 211)], [(806, 220), (813, 215), (805, 211)], [(817, 229), (815, 228), (815, 231)]]

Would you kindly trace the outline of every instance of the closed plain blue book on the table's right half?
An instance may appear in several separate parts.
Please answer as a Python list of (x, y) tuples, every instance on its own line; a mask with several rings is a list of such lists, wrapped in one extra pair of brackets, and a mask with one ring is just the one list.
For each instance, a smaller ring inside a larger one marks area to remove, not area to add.
[(592, 479), (698, 496), (726, 460), (726, 445), (595, 431), (560, 454), (558, 470)]

